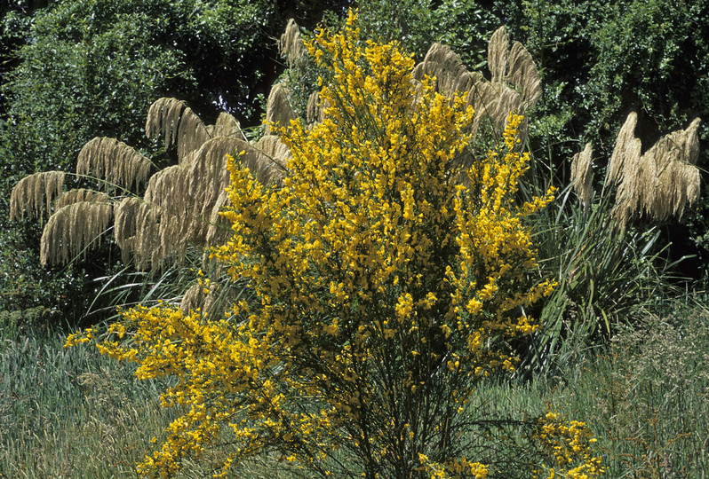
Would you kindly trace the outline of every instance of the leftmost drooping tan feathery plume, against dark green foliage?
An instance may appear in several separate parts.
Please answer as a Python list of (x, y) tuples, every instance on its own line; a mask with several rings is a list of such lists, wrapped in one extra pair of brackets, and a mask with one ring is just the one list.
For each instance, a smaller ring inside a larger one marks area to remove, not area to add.
[(52, 200), (60, 195), (63, 186), (63, 171), (41, 171), (22, 178), (10, 194), (10, 219), (25, 217), (27, 210), (42, 221), (44, 211), (51, 214)]

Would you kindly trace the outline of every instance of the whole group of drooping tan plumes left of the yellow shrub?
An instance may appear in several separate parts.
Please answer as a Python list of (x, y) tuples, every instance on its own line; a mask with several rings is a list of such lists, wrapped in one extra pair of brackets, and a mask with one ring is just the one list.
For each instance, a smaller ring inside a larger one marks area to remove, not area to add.
[[(269, 105), (271, 119), (290, 122), (287, 90), (276, 86)], [(153, 272), (168, 260), (181, 263), (188, 246), (213, 246), (227, 237), (228, 225), (219, 217), (228, 201), (227, 154), (243, 152), (241, 161), (264, 184), (280, 181), (287, 172), (290, 153), (278, 137), (267, 135), (251, 145), (231, 114), (219, 114), (214, 125), (204, 125), (175, 98), (160, 98), (150, 106), (146, 134), (162, 136), (168, 148), (177, 146), (179, 163), (147, 180), (151, 161), (116, 139), (96, 137), (84, 145), (76, 167), (79, 177), (106, 180), (109, 191), (115, 186), (137, 189), (147, 181), (143, 198), (116, 199), (114, 208), (106, 193), (62, 192), (60, 171), (36, 173), (15, 186), (12, 219), (27, 211), (39, 217), (54, 212), (42, 235), (42, 264), (67, 263), (98, 246), (114, 213), (123, 262), (132, 259), (140, 270)]]

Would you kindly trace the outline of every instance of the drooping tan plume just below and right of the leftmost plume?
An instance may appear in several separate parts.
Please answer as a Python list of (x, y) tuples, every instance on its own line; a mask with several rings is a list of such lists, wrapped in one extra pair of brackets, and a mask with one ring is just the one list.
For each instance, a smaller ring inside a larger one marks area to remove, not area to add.
[(98, 247), (112, 216), (109, 203), (81, 201), (60, 208), (44, 225), (39, 263), (68, 263), (90, 247)]

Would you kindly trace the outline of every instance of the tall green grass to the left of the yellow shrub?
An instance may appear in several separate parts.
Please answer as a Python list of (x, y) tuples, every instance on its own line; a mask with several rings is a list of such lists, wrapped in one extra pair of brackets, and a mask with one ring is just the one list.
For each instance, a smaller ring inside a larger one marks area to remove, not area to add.
[(158, 384), (64, 335), (4, 325), (0, 477), (130, 477), (170, 420)]

